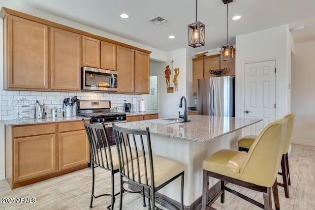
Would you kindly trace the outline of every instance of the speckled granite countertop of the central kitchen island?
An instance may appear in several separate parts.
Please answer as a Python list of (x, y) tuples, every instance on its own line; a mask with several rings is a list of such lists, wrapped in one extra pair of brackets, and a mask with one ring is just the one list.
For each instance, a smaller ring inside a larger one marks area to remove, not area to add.
[(262, 119), (230, 118), (205, 115), (191, 115), (189, 122), (158, 124), (148, 120), (119, 123), (118, 126), (129, 129), (150, 128), (150, 134), (168, 138), (206, 143)]

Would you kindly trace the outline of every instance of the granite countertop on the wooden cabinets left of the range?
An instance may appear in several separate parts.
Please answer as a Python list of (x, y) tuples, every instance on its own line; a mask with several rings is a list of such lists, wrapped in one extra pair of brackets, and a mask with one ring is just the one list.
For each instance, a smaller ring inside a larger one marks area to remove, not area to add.
[(5, 125), (28, 125), (28, 124), (40, 124), (40, 123), (51, 123), (51, 122), (66, 122), (66, 121), (77, 121), (77, 120), (89, 120), (89, 118), (83, 118), (74, 116), (71, 118), (45, 118), (45, 119), (24, 119), (24, 120), (2, 120), (1, 122)]

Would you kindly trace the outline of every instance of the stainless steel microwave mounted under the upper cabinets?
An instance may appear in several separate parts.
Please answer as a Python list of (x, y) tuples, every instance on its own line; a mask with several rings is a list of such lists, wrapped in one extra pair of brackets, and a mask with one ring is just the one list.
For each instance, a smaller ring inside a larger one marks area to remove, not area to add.
[(115, 92), (117, 78), (117, 71), (84, 66), (82, 67), (82, 91)]

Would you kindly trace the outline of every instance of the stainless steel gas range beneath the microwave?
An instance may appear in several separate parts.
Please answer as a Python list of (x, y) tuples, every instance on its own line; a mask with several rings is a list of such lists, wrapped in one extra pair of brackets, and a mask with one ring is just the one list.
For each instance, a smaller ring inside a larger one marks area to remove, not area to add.
[(90, 118), (90, 123), (104, 122), (110, 145), (115, 145), (115, 136), (112, 122), (126, 122), (126, 114), (111, 111), (110, 101), (85, 101), (79, 100), (77, 116)]

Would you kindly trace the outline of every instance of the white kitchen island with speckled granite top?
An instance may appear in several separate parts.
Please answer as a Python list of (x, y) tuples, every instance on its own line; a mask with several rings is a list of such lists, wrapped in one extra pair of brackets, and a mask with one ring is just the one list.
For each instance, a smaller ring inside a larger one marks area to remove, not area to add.
[[(176, 160), (185, 165), (185, 209), (201, 208), (202, 161), (221, 149), (237, 150), (242, 128), (261, 121), (217, 116), (189, 116), (189, 122), (172, 124), (152, 123), (148, 120), (120, 123), (129, 129), (150, 128), (152, 153)], [(210, 179), (210, 186), (217, 180)], [(174, 180), (158, 192), (167, 200), (180, 201), (180, 179)]]

